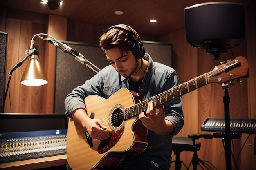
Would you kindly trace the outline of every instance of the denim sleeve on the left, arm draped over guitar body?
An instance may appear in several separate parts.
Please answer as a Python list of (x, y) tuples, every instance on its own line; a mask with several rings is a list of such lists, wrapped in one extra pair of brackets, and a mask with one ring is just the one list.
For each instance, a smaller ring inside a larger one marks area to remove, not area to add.
[(107, 99), (120, 88), (127, 88), (126, 79), (121, 78), (111, 65), (106, 66), (67, 95), (65, 99), (65, 114), (72, 118), (74, 110), (78, 108), (86, 109), (84, 99), (88, 95), (98, 95)]

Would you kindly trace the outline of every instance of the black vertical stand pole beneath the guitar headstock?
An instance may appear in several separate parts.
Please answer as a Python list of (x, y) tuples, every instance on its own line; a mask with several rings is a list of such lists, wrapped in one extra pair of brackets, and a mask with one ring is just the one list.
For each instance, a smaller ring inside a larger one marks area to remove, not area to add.
[(231, 139), (230, 139), (230, 113), (229, 113), (229, 85), (227, 83), (222, 84), (224, 90), (224, 121), (225, 121), (225, 158), (226, 158), (226, 170), (231, 170)]

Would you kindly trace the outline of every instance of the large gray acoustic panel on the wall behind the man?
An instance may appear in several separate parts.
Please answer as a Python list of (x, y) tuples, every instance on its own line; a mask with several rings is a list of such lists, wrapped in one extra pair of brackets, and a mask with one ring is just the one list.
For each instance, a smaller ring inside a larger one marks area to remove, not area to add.
[[(110, 63), (106, 60), (105, 52), (99, 45), (79, 42), (63, 42), (83, 54), (92, 64), (102, 69)], [(160, 42), (143, 41), (146, 53), (149, 53), (155, 62), (171, 66), (172, 45)], [(68, 93), (83, 84), (96, 74), (87, 66), (76, 61), (70, 54), (56, 49), (56, 79), (54, 113), (65, 113), (64, 101)]]

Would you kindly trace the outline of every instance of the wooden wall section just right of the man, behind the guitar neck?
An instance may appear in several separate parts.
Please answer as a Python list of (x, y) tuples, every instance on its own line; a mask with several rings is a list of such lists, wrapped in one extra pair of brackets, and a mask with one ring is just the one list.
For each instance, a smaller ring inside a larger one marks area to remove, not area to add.
[[(180, 83), (184, 83), (197, 77), (198, 74), (198, 50), (186, 43), (184, 29), (168, 34), (160, 39), (162, 42), (174, 43), (172, 67), (178, 74)], [(189, 134), (198, 133), (198, 91), (192, 91), (182, 96), (184, 113), (184, 127), (177, 135), (187, 137)], [(189, 120), (189, 121), (188, 121)], [(172, 154), (173, 160), (175, 155)], [(182, 152), (181, 159), (189, 165), (193, 152)], [(174, 169), (174, 165), (171, 166)]]

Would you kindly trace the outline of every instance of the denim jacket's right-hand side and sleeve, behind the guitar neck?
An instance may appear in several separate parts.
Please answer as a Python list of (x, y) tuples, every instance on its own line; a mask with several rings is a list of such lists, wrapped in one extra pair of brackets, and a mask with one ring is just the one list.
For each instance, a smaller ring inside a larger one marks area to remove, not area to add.
[[(142, 81), (143, 84), (140, 86), (141, 94), (145, 96), (145, 99), (149, 99), (179, 85), (177, 73), (173, 68), (153, 62), (150, 55), (148, 55), (148, 60), (147, 73)], [(166, 113), (165, 119), (171, 121), (174, 126), (174, 133), (171, 136), (177, 135), (184, 125), (182, 97), (177, 97), (165, 103), (164, 110)]]

